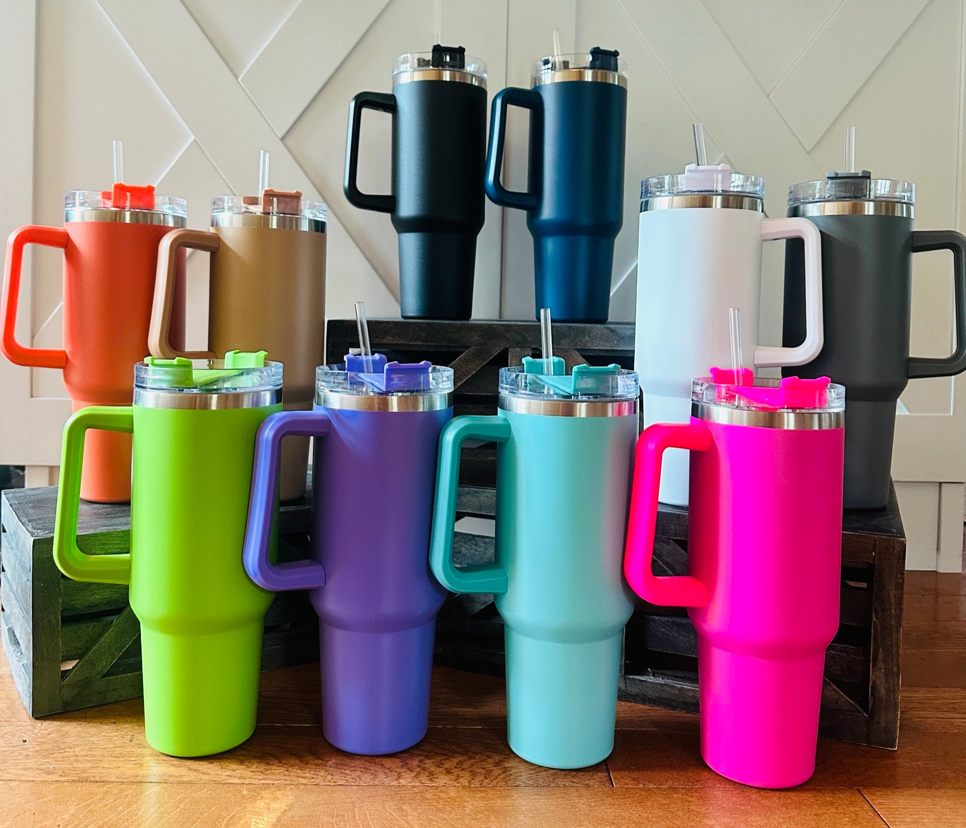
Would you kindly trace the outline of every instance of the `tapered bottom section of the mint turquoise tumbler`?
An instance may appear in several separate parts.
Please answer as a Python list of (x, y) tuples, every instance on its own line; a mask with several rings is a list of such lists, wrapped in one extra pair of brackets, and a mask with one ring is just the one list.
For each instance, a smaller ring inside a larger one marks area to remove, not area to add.
[(507, 741), (544, 767), (582, 768), (613, 750), (621, 636), (532, 639), (505, 628)]

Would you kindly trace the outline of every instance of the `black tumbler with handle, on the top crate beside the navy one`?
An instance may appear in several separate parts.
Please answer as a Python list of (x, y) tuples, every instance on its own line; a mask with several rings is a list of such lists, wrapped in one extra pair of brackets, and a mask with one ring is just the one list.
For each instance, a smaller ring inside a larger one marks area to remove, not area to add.
[[(486, 64), (463, 46), (433, 46), (396, 60), (392, 95), (360, 92), (349, 104), (346, 198), (392, 214), (406, 319), (469, 319), (476, 237), (483, 227)], [(392, 114), (392, 194), (356, 186), (363, 109)]]

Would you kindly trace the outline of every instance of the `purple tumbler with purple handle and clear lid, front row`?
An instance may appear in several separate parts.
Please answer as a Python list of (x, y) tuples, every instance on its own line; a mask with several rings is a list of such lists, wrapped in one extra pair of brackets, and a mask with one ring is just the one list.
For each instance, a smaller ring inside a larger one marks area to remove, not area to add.
[[(316, 370), (310, 412), (259, 430), (244, 566), (266, 589), (311, 589), (319, 614), (323, 732), (353, 754), (391, 754), (426, 734), (436, 615), (446, 590), (429, 568), (442, 427), (453, 371), (385, 357)], [(269, 559), (279, 447), (315, 440), (312, 559)]]

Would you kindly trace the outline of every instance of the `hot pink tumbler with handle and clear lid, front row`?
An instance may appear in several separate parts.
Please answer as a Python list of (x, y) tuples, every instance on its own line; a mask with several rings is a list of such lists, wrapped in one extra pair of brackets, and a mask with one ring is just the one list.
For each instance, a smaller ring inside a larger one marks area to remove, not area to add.
[[(624, 573), (697, 630), (701, 755), (745, 785), (815, 768), (825, 649), (838, 630), (845, 389), (821, 380), (696, 380), (688, 424), (638, 442)], [(691, 574), (651, 572), (661, 456), (691, 449)]]

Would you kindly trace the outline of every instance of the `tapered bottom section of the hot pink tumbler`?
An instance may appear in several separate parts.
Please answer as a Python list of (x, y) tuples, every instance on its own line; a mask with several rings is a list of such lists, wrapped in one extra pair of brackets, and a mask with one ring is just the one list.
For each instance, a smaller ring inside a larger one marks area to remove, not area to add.
[(824, 651), (760, 659), (698, 639), (701, 756), (727, 779), (793, 787), (815, 770)]

